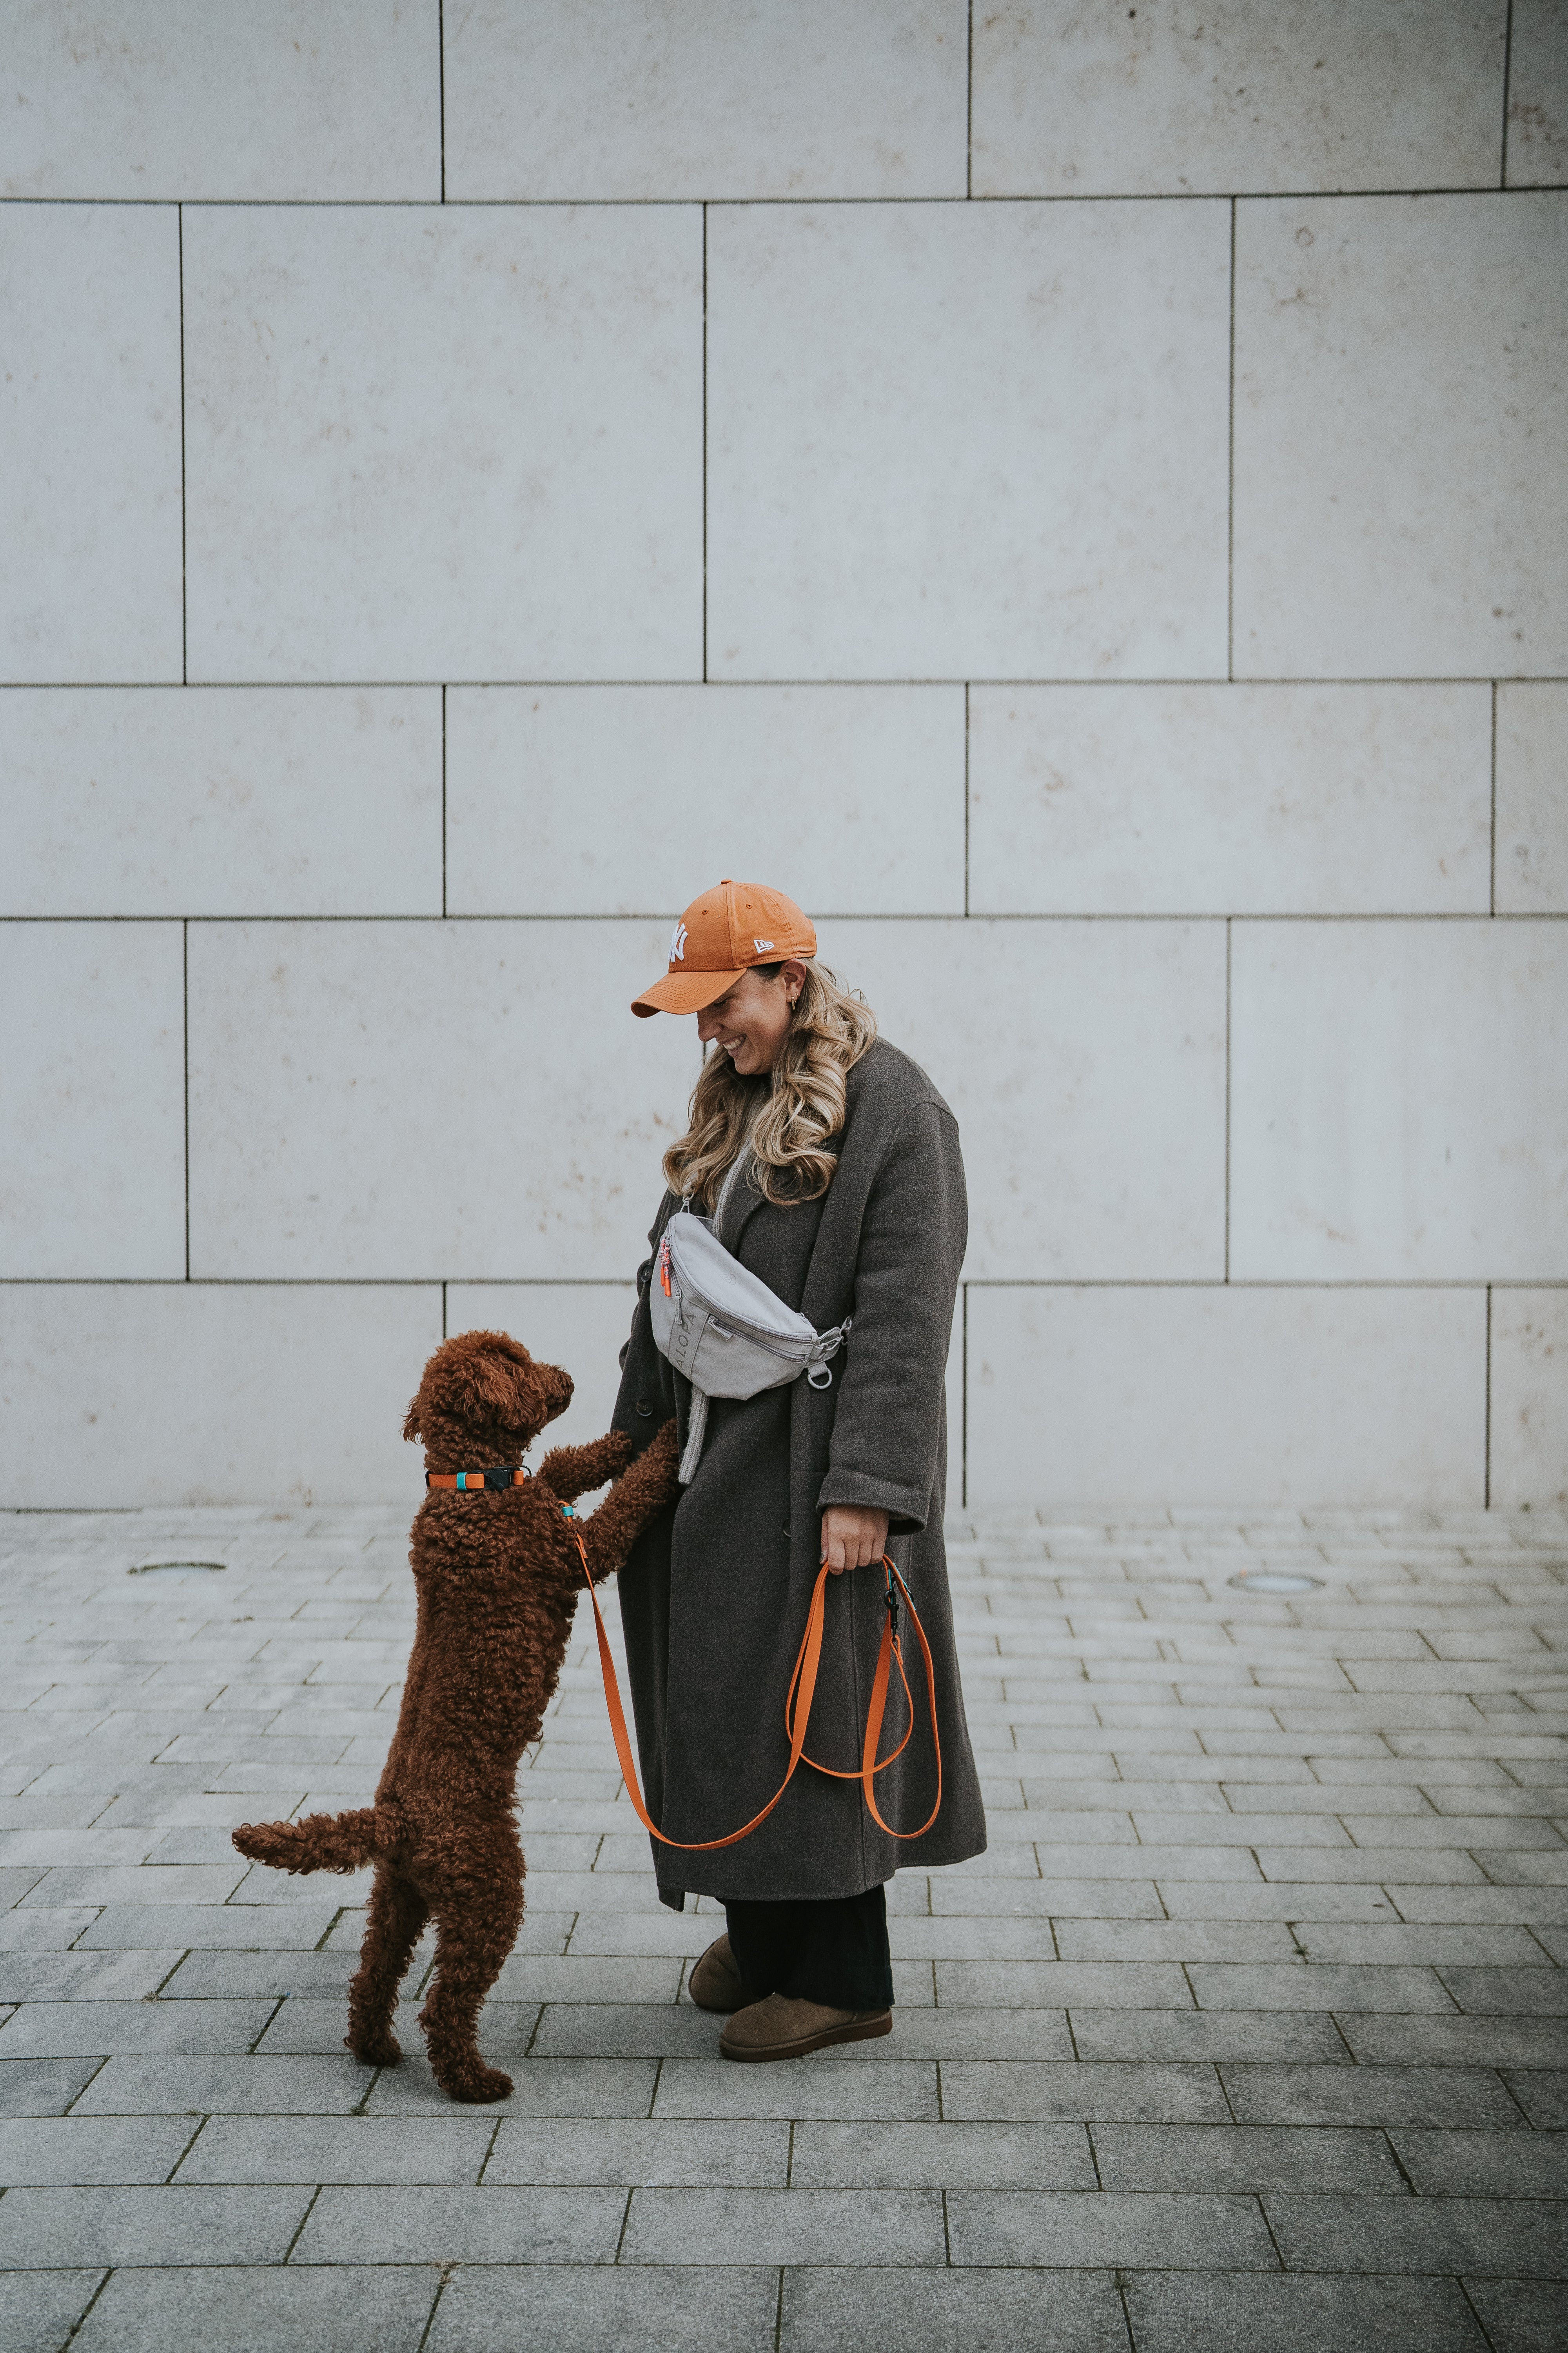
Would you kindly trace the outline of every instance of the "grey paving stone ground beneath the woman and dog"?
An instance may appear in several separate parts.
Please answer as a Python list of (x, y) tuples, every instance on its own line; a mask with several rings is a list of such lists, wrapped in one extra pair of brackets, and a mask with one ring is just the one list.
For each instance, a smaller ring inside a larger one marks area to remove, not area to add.
[(1568, 1525), (1009, 1513), (952, 1569), (992, 1845), (893, 1882), (891, 2040), (719, 2061), (581, 1638), (475, 2111), (428, 1946), (357, 2066), (364, 1880), (228, 1845), (371, 1793), (407, 1520), (0, 1518), (7, 2353), (1561, 2353)]

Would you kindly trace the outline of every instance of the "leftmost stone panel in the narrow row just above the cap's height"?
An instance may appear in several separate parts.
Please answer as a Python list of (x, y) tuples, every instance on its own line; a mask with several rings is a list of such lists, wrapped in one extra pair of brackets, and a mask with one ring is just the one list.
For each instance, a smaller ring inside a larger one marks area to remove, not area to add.
[(440, 915), (435, 687), (0, 694), (5, 915)]

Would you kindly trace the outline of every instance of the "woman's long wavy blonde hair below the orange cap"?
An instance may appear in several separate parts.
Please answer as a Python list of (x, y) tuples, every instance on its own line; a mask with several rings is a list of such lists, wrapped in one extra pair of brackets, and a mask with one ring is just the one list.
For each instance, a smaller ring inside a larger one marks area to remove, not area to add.
[[(773, 976), (778, 965), (757, 965)], [(877, 1042), (877, 1014), (860, 991), (839, 988), (825, 965), (806, 965), (785, 1042), (766, 1078), (741, 1078), (712, 1047), (691, 1089), (691, 1127), (665, 1153), (665, 1184), (712, 1212), (724, 1172), (750, 1127), (752, 1181), (764, 1200), (792, 1209), (818, 1200), (839, 1165), (827, 1139), (844, 1127), (846, 1078)]]

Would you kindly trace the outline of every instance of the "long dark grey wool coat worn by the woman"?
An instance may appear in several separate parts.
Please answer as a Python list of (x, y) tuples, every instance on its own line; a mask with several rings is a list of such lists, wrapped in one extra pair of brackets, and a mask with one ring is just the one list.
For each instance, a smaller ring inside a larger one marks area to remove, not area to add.
[[(665, 1193), (654, 1249), (679, 1207)], [(621, 1621), (637, 1715), (644, 1795), (672, 1838), (736, 1831), (766, 1805), (790, 1762), (785, 1692), (820, 1567), (827, 1504), (889, 1513), (889, 1551), (926, 1626), (936, 1661), (943, 1809), (924, 1838), (898, 1842), (865, 1809), (860, 1781), (799, 1765), (780, 1805), (733, 1847), (684, 1854), (654, 1842), (658, 1892), (722, 1899), (853, 1897), (893, 1871), (957, 1864), (985, 1847), (985, 1809), (964, 1725), (943, 1553), (947, 1478), (945, 1360), (964, 1259), (959, 1134), (947, 1104), (907, 1054), (877, 1042), (849, 1073), (839, 1165), (813, 1202), (773, 1207), (743, 1169), (719, 1240), (820, 1329), (853, 1315), (832, 1386), (715, 1398), (691, 1485), (637, 1541), (621, 1569)], [(691, 1386), (654, 1346), (649, 1282), (637, 1275), (616, 1428), (646, 1445), (675, 1414), (682, 1445)], [(858, 1767), (884, 1577), (827, 1581), (823, 1659), (806, 1751)], [(931, 1715), (919, 1642), (900, 1626), (914, 1739), (877, 1774), (896, 1831), (917, 1828), (936, 1798)], [(907, 1715), (893, 1673), (882, 1753)]]

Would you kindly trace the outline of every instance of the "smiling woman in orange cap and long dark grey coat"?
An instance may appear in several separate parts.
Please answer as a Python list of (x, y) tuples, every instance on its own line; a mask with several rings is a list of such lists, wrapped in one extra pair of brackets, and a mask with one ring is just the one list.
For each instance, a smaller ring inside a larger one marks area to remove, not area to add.
[[(943, 1805), (898, 1842), (858, 1779), (802, 1765), (780, 1805), (733, 1847), (654, 1842), (658, 1892), (717, 1897), (729, 1934), (691, 1972), (691, 1998), (733, 2012), (729, 2059), (790, 2059), (891, 2031), (884, 1882), (985, 1847), (964, 1727), (943, 1555), (947, 1442), (943, 1369), (964, 1257), (957, 1125), (931, 1080), (877, 1040), (860, 998), (813, 965), (816, 932), (780, 892), (719, 882), (670, 944), (670, 972), (635, 1014), (696, 1014), (708, 1059), (691, 1127), (665, 1153), (658, 1252), (682, 1195), (726, 1249), (818, 1332), (853, 1318), (832, 1384), (797, 1379), (755, 1398), (696, 1398), (654, 1346), (637, 1273), (616, 1426), (644, 1445), (679, 1424), (684, 1494), (621, 1572), (621, 1621), (637, 1746), (668, 1838), (724, 1838), (778, 1788), (790, 1744), (785, 1689), (823, 1562), (858, 1572), (827, 1591), (806, 1748), (860, 1765), (886, 1624), (891, 1551), (936, 1661)], [(907, 1633), (907, 1628), (905, 1628)], [(919, 1645), (905, 1640), (905, 1652)], [(919, 1664), (914, 1739), (877, 1774), (893, 1831), (936, 1805), (936, 1755)], [(882, 1753), (905, 1732), (893, 1678)]]

